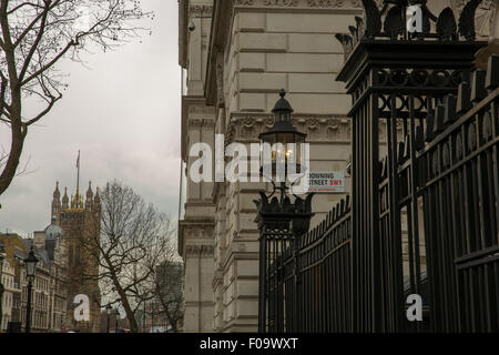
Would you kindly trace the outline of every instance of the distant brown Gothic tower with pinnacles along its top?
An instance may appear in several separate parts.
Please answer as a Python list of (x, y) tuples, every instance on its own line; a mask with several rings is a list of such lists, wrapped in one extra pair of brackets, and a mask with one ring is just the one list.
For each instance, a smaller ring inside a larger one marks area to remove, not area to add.
[[(93, 195), (92, 185), (89, 183), (86, 200), (77, 187), (75, 194), (68, 197), (68, 189), (64, 190), (62, 203), (60, 202), (59, 183), (53, 193), (52, 216), (61, 226), (65, 236), (65, 251), (68, 257), (68, 318), (67, 329), (81, 333), (98, 333), (100, 331), (100, 303), (101, 292), (99, 282), (91, 277), (99, 274), (99, 264), (91, 256), (94, 254), (93, 244), (99, 241), (101, 232), (101, 202), (99, 190)], [(89, 242), (93, 241), (93, 242)], [(95, 253), (95, 255), (99, 255)], [(74, 303), (77, 295), (85, 295), (90, 303), (90, 318), (77, 321), (74, 317)]]

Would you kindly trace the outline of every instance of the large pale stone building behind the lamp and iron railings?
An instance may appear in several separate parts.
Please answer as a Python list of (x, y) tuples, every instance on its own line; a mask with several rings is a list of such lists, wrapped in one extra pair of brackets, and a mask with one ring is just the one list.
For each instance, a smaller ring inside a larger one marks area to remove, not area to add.
[[(450, 6), (459, 10), (461, 2)], [(428, 4), (439, 13), (449, 2)], [(350, 98), (335, 81), (344, 54), (334, 36), (355, 24), (355, 16), (363, 17), (361, 1), (182, 0), (179, 8), (180, 64), (186, 73), (182, 159), (187, 190), (179, 224), (179, 252), (185, 265), (184, 331), (253, 332), (258, 293), (253, 200), (269, 186), (195, 183), (189, 175), (198, 154), (190, 154), (191, 149), (205, 142), (215, 151), (215, 134), (224, 134), (224, 146), (258, 142), (258, 134), (272, 126), (269, 112), (285, 89), (295, 110), (293, 123), (308, 135), (310, 170), (346, 171)], [(485, 31), (492, 26), (496, 7), (486, 1), (480, 9), (485, 12), (477, 17), (488, 24), (479, 29)], [(312, 225), (344, 196), (317, 195)]]

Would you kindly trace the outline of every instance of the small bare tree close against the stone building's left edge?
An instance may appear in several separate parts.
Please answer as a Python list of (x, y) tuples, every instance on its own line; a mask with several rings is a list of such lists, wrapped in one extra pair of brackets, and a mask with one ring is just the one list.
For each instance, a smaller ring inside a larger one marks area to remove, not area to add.
[(155, 295), (160, 315), (164, 315), (173, 332), (179, 332), (179, 322), (184, 316), (182, 294), (183, 264), (173, 257), (155, 268)]

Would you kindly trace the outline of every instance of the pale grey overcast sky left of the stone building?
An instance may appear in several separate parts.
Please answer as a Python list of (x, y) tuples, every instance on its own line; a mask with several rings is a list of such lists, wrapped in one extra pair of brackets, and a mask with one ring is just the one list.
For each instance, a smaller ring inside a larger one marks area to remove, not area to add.
[[(73, 193), (81, 151), (81, 185), (118, 179), (176, 217), (180, 174), (181, 74), (177, 1), (145, 0), (154, 10), (145, 34), (114, 52), (85, 54), (86, 67), (64, 63), (70, 88), (51, 113), (31, 128), (23, 165), (0, 196), (0, 231), (32, 233), (50, 224), (55, 182)], [(8, 133), (0, 125), (0, 140)], [(4, 142), (3, 142), (4, 143)]]

